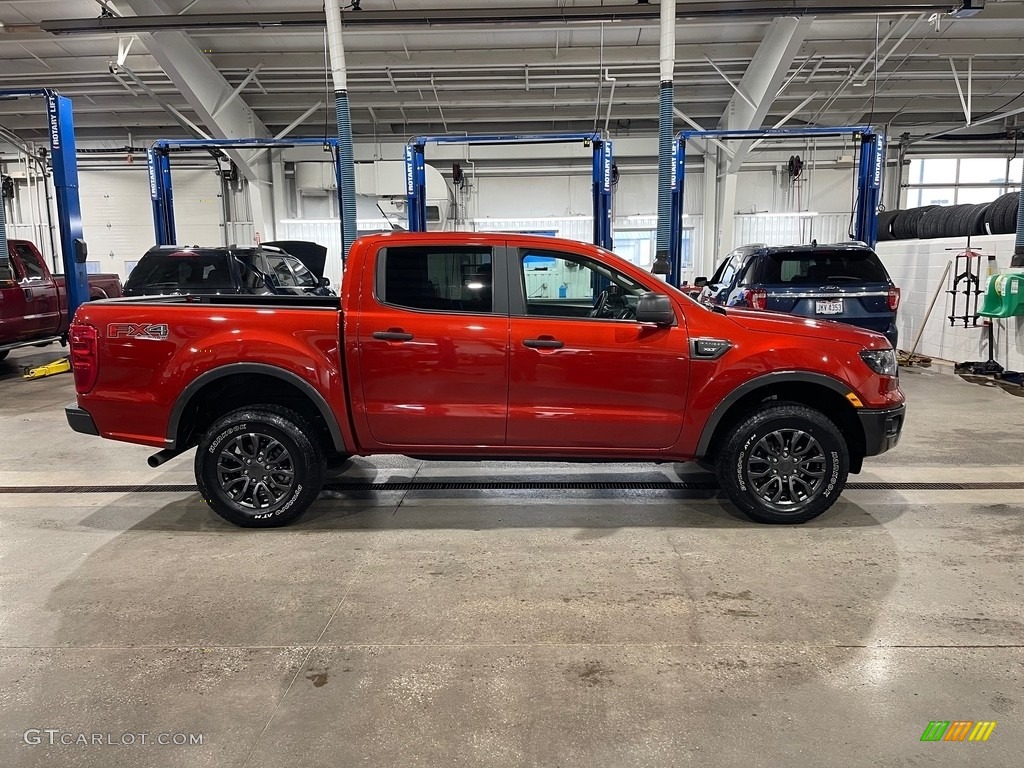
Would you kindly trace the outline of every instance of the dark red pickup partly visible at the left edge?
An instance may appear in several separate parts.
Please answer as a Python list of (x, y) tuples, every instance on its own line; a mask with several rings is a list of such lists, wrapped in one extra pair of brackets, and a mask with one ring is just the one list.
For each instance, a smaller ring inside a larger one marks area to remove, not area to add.
[[(0, 360), (16, 347), (62, 341), (68, 334), (68, 290), (62, 274), (50, 274), (38, 249), (8, 240), (9, 274), (0, 276)], [(91, 299), (121, 295), (116, 274), (90, 274)]]

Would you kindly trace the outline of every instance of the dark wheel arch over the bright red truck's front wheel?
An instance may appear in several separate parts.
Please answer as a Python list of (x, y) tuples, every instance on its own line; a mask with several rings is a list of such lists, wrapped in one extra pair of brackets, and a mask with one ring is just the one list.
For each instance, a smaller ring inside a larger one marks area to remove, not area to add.
[(700, 432), (696, 458), (705, 459), (713, 455), (717, 438), (723, 431), (720, 428), (727, 428), (752, 403), (774, 396), (824, 411), (819, 402), (824, 397), (838, 407), (835, 412), (837, 418), (833, 420), (849, 442), (851, 471), (859, 472), (864, 455), (864, 432), (856, 417), (856, 410), (846, 398), (850, 391), (850, 386), (839, 379), (806, 371), (776, 371), (743, 382), (715, 407)]

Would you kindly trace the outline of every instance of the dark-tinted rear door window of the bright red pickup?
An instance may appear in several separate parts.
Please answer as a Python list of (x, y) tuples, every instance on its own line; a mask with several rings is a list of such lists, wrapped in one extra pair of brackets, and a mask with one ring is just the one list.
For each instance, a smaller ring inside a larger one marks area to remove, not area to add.
[(493, 310), (489, 248), (402, 246), (384, 251), (377, 296), (410, 309), (450, 312)]

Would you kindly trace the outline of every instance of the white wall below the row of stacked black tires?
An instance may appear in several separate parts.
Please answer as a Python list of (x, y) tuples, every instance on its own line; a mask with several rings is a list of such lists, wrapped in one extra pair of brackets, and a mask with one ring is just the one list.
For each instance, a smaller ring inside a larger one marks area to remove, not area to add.
[[(973, 248), (995, 256), (996, 271), (1007, 271), (1014, 253), (1013, 234), (994, 234), (972, 238)], [(897, 327), (900, 333), (900, 347), (910, 349), (913, 339), (925, 322), (928, 304), (941, 290), (935, 309), (924, 326), (918, 352), (930, 357), (938, 357), (954, 362), (988, 359), (988, 337), (985, 329), (964, 328), (964, 324), (950, 326), (952, 296), (946, 291), (952, 288), (952, 272), (941, 280), (946, 263), (954, 259), (956, 253), (965, 249), (964, 238), (939, 240), (911, 240), (880, 243), (879, 255), (893, 281), (903, 292), (898, 313)], [(951, 249), (951, 250), (947, 250)], [(987, 260), (982, 275), (987, 273)], [(984, 281), (983, 281), (984, 284)], [(958, 301), (963, 301), (963, 296)], [(957, 314), (963, 314), (962, 303)], [(979, 304), (980, 306), (980, 304)], [(1024, 317), (1009, 317), (994, 321), (995, 359), (1011, 371), (1024, 371)]]

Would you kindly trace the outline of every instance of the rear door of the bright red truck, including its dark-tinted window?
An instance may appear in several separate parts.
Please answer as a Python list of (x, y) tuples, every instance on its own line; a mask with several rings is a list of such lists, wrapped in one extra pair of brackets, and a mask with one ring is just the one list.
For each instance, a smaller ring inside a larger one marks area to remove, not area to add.
[(353, 407), (377, 442), (505, 444), (508, 291), (495, 257), (482, 244), (376, 255), (359, 300)]

